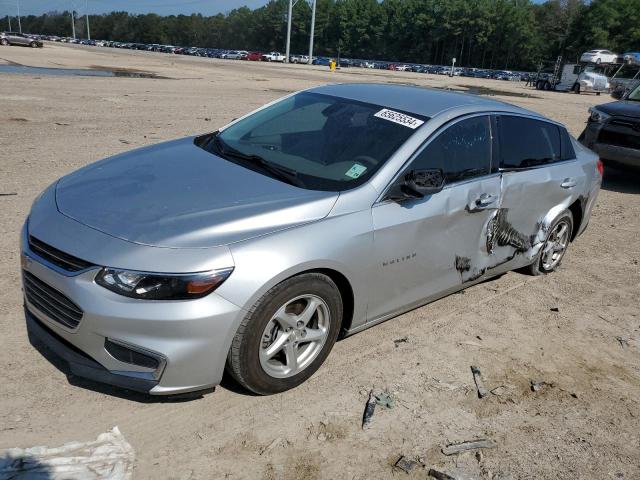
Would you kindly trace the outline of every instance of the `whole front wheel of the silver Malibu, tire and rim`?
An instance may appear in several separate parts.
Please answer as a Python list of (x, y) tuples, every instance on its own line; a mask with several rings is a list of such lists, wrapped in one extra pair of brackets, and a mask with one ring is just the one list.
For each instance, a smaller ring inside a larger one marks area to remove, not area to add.
[(325, 361), (341, 323), (342, 297), (329, 277), (292, 277), (269, 290), (244, 318), (227, 370), (260, 395), (297, 387)]

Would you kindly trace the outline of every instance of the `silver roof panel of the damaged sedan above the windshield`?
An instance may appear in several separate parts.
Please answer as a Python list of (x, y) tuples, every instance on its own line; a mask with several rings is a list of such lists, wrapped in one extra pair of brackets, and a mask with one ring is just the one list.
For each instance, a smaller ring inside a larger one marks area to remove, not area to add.
[(308, 90), (313, 93), (333, 95), (359, 102), (373, 103), (387, 108), (434, 117), (445, 110), (471, 107), (475, 111), (507, 111), (540, 116), (540, 114), (498, 100), (479, 95), (437, 90), (411, 85), (382, 83), (344, 83), (325, 85)]

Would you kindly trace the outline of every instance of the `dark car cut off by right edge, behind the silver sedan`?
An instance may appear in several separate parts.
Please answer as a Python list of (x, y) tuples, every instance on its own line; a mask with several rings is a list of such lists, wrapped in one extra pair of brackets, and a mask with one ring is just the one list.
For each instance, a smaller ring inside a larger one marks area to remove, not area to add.
[(640, 170), (640, 85), (617, 102), (589, 109), (578, 139), (610, 165)]

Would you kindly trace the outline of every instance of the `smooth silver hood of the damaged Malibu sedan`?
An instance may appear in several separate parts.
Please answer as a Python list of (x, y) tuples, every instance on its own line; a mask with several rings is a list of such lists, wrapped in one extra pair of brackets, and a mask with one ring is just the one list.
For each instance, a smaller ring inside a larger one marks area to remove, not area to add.
[(225, 245), (319, 220), (337, 198), (229, 162), (193, 138), (102, 160), (56, 186), (63, 215), (123, 240), (173, 248)]

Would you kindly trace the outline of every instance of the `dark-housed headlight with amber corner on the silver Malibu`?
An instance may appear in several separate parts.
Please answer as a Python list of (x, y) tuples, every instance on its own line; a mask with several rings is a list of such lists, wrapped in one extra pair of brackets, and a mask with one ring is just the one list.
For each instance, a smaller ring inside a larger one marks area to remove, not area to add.
[(188, 300), (210, 294), (224, 282), (233, 268), (202, 273), (146, 273), (103, 268), (96, 283), (125, 297), (144, 300)]

